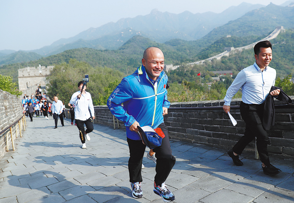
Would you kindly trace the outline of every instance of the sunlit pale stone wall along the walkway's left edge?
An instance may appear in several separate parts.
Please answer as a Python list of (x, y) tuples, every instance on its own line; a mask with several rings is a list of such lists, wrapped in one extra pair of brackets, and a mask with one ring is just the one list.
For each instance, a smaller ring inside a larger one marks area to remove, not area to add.
[[(17, 121), (22, 117), (22, 104), (20, 97), (11, 95), (8, 92), (0, 90), (0, 131)], [(12, 136), (15, 139), (16, 126), (12, 126)], [(19, 130), (18, 130), (19, 133)], [(0, 157), (5, 152), (5, 138), (9, 135), (9, 146), (11, 147), (11, 138), (8, 131), (0, 135)]]

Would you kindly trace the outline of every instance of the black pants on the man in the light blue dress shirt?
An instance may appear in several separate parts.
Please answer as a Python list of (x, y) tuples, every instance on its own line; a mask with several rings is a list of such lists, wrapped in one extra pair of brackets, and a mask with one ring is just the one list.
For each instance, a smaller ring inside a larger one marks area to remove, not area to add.
[(245, 147), (256, 137), (256, 147), (261, 162), (270, 164), (267, 143), (268, 135), (262, 126), (263, 104), (246, 104), (241, 102), (240, 112), (246, 123), (244, 136), (233, 147), (233, 152), (241, 154)]

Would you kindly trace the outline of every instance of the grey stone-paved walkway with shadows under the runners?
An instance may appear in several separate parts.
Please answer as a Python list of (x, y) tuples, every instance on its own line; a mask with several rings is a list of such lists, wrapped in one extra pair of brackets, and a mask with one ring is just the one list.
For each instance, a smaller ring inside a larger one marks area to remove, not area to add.
[[(27, 124), (16, 151), (0, 159), (0, 203), (163, 202), (153, 193), (155, 163), (146, 156), (144, 196), (132, 198), (125, 131), (95, 124), (81, 149), (69, 119), (57, 129), (52, 117)], [(293, 161), (272, 158), (283, 172), (270, 177), (254, 154), (243, 154), (244, 166), (235, 166), (224, 150), (179, 141), (171, 146), (177, 161), (166, 185), (174, 203), (294, 203)]]

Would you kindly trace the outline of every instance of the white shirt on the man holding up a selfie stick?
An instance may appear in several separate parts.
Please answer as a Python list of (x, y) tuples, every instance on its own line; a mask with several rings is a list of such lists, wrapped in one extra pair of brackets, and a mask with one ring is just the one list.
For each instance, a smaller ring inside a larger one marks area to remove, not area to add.
[(81, 94), (80, 91), (75, 92), (71, 96), (70, 104), (75, 104), (75, 119), (78, 120), (88, 120), (90, 118), (90, 111), (92, 116), (94, 116), (94, 106), (91, 94), (85, 91), (85, 95), (82, 94), (82, 97), (78, 99), (78, 95)]

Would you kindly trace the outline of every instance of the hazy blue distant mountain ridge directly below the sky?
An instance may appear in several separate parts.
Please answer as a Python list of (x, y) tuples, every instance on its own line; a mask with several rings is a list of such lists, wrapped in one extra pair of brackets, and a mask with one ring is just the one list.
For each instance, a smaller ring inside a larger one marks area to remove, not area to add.
[[(69, 49), (85, 47), (98, 50), (116, 50), (135, 35), (142, 35), (160, 43), (171, 39), (192, 41), (205, 36), (215, 27), (263, 6), (243, 2), (238, 6), (231, 6), (221, 13), (196, 14), (189, 11), (173, 14), (153, 9), (148, 15), (122, 18), (115, 23), (110, 22), (98, 28), (90, 28), (74, 37), (60, 39), (50, 46), (26, 52), (36, 52), (48, 56)], [(154, 29), (154, 27), (157, 29)], [(5, 52), (0, 51), (0, 57), (1, 53), (3, 55)]]

